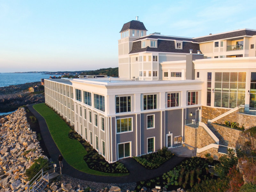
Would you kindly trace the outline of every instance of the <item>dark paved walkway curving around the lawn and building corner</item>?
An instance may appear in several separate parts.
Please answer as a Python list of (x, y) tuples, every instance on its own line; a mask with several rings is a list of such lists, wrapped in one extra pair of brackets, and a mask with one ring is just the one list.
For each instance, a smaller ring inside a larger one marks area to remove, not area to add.
[[(33, 108), (32, 105), (28, 106), (29, 110), (36, 116), (39, 126), (41, 135), (43, 137), (44, 143), (48, 152), (53, 161), (58, 163), (58, 156), (60, 155), (60, 150), (54, 143), (52, 136), (49, 132), (47, 124), (37, 111)], [(75, 157), (74, 157), (75, 158)], [(91, 175), (88, 173), (84, 173), (81, 171), (76, 170), (74, 167), (70, 166), (65, 159), (63, 159), (63, 174), (67, 174), (71, 177), (87, 180), (87, 181), (94, 181), (94, 182), (104, 182), (104, 183), (125, 183), (125, 182), (136, 182), (141, 180), (147, 180), (156, 176), (162, 175), (164, 172), (169, 171), (181, 161), (183, 161), (185, 157), (174, 156), (170, 160), (166, 161), (162, 166), (158, 167), (157, 169), (149, 170), (137, 163), (133, 158), (125, 158), (121, 159), (122, 162), (127, 169), (129, 170), (130, 174), (122, 177), (110, 177), (110, 176), (98, 176), (98, 175)]]

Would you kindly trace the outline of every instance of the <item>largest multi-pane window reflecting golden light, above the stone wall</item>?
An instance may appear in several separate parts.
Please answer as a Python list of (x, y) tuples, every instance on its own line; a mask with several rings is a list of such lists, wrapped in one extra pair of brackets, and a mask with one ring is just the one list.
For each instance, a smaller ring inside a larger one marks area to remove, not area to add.
[(214, 107), (244, 105), (245, 81), (246, 72), (215, 72)]

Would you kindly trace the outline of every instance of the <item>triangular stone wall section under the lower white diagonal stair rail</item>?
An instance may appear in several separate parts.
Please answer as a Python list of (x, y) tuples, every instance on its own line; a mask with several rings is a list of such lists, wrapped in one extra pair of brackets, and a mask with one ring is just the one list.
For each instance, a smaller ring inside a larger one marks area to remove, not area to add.
[(215, 143), (211, 136), (204, 130), (203, 127), (199, 126), (197, 129), (197, 148), (203, 148), (207, 145)]

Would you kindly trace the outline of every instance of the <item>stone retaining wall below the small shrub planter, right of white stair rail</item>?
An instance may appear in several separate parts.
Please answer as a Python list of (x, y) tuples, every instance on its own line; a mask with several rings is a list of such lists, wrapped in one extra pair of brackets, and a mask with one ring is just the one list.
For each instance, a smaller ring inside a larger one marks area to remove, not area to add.
[(213, 127), (212, 132), (220, 139), (220, 145), (236, 148), (236, 142), (240, 137), (242, 131), (232, 129), (219, 124), (211, 124)]

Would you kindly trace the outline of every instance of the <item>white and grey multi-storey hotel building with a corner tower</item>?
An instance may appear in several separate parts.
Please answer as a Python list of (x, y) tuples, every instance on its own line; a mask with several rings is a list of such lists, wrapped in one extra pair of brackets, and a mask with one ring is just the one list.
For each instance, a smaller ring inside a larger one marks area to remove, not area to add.
[(108, 162), (181, 146), (202, 106), (256, 108), (256, 30), (147, 35), (136, 18), (120, 34), (119, 78), (44, 80), (45, 103)]

